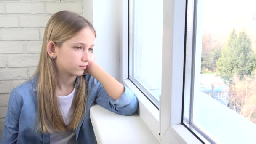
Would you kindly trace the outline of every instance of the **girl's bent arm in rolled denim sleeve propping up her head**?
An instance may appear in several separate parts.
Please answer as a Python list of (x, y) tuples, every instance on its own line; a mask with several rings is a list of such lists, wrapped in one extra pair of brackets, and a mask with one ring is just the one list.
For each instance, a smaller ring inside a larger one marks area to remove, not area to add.
[(119, 83), (115, 78), (107, 74), (96, 62), (94, 55), (88, 63), (87, 79), (91, 79), (96, 85), (95, 102), (102, 107), (121, 114), (132, 115), (138, 109), (138, 100), (134, 93), (126, 86)]

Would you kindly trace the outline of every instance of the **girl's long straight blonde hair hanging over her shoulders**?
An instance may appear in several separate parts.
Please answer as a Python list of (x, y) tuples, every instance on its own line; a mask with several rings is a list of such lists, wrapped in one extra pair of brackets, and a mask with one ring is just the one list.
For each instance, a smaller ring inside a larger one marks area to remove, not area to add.
[(76, 88), (76, 96), (72, 101), (73, 112), (71, 121), (65, 125), (59, 102), (56, 96), (56, 71), (53, 59), (47, 53), (49, 41), (61, 47), (62, 43), (72, 38), (81, 29), (89, 27), (96, 36), (92, 24), (82, 16), (70, 12), (59, 11), (49, 19), (43, 36), (43, 45), (39, 64), (34, 75), (38, 74), (37, 80), (37, 114), (36, 131), (46, 133), (47, 131), (75, 131), (85, 115), (87, 107), (87, 87), (85, 78), (79, 77), (79, 85)]

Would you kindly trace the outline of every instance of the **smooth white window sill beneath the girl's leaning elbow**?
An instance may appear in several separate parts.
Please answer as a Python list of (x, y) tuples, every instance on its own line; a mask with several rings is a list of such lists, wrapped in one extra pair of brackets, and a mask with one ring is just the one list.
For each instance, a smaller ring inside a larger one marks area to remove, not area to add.
[(138, 114), (118, 115), (93, 105), (90, 117), (98, 144), (159, 144)]

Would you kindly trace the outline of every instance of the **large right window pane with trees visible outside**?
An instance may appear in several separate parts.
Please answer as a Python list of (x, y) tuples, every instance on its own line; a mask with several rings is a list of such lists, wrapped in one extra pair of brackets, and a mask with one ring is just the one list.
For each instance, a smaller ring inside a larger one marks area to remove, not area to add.
[(255, 0), (187, 0), (183, 123), (205, 143), (256, 143)]

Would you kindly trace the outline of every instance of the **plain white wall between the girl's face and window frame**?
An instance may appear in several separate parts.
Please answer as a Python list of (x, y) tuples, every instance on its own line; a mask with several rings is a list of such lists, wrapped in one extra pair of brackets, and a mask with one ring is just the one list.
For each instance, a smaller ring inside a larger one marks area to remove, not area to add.
[[(93, 49), (95, 60), (110, 75), (120, 80), (122, 2), (121, 0), (93, 0), (92, 8), (93, 26), (97, 32)], [(85, 9), (87, 9), (86, 6)]]

